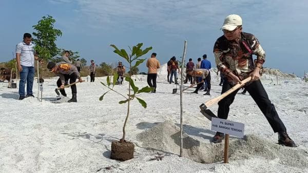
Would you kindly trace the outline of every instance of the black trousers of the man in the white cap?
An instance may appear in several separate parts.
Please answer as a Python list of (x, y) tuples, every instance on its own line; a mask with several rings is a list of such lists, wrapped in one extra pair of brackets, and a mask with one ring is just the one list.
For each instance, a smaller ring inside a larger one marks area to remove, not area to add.
[[(230, 85), (227, 80), (224, 80), (221, 93), (226, 92), (232, 87), (233, 86)], [(264, 114), (268, 123), (272, 126), (274, 132), (286, 131), (283, 122), (280, 120), (278, 116), (275, 106), (268, 99), (268, 95), (260, 80), (248, 84), (247, 86), (245, 86), (245, 88), (247, 89), (251, 97), (254, 99), (254, 101)], [(229, 106), (233, 103), (235, 95), (238, 91), (239, 89), (235, 90), (234, 92), (230, 93), (227, 97), (218, 102), (217, 113), (220, 119), (226, 120), (228, 118)], [(245, 104), (245, 102), (242, 102), (242, 104)]]

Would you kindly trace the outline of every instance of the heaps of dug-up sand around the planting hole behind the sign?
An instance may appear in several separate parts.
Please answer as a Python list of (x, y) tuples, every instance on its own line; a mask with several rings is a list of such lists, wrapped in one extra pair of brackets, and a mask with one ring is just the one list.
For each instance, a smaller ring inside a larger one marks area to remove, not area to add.
[[(137, 136), (144, 147), (165, 152), (180, 153), (180, 128), (170, 121), (160, 123)], [(200, 163), (223, 161), (222, 144), (202, 143), (186, 133), (183, 134), (183, 156)], [(229, 158), (249, 159), (261, 156), (269, 160), (280, 159), (290, 166), (308, 167), (308, 153), (297, 148), (282, 147), (255, 135), (245, 136), (244, 140), (230, 140)]]

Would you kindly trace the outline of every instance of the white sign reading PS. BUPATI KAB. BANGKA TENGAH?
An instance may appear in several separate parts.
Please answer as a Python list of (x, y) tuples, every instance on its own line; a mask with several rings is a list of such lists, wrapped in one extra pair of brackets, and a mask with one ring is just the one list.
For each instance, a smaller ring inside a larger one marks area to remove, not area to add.
[(212, 118), (211, 130), (230, 134), (232, 136), (244, 137), (244, 124), (224, 119)]

